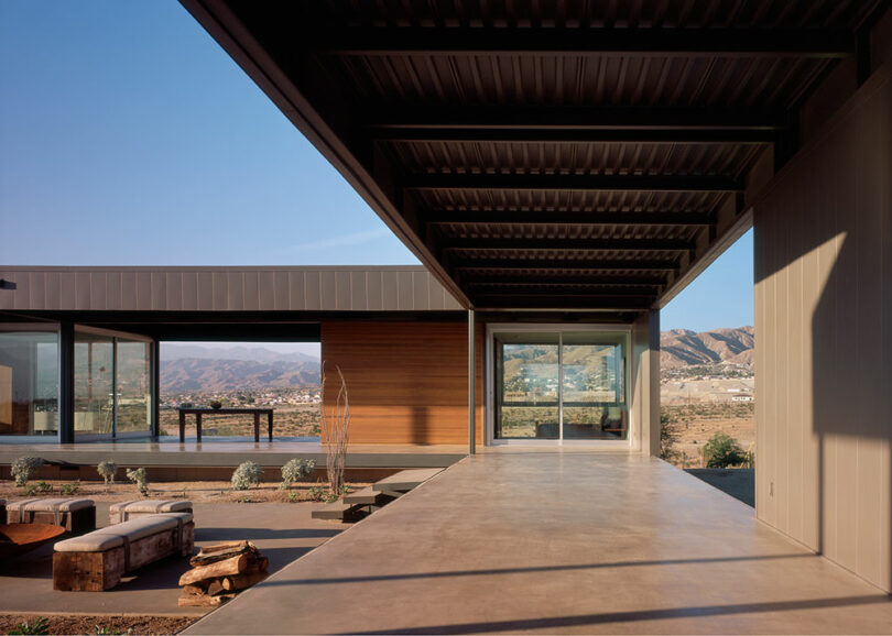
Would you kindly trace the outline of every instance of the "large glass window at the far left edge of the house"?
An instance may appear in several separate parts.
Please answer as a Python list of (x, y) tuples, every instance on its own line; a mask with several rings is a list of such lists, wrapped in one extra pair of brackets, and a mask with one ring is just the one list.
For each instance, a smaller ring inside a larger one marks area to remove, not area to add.
[(0, 331), (0, 435), (58, 435), (55, 331)]

